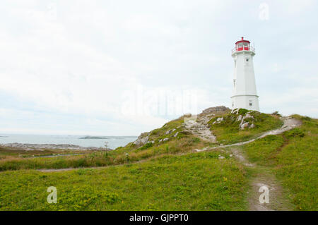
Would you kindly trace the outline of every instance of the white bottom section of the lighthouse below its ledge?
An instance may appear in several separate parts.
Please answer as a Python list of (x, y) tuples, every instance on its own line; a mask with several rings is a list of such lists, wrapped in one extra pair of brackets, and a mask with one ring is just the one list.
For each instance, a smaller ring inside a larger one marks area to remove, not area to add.
[(257, 95), (233, 95), (232, 109), (242, 108), (259, 111), (259, 97)]

